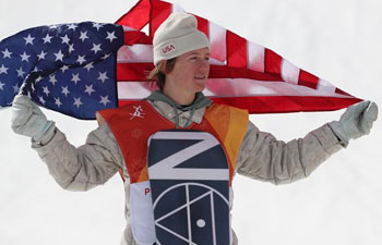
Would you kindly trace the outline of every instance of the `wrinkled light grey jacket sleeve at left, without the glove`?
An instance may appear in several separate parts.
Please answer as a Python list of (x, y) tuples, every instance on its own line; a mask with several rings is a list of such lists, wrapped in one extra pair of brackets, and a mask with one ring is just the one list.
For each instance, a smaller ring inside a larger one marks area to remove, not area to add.
[(80, 147), (71, 145), (56, 128), (46, 145), (32, 144), (49, 173), (64, 189), (88, 191), (107, 182), (123, 166), (119, 146), (107, 123), (87, 135)]

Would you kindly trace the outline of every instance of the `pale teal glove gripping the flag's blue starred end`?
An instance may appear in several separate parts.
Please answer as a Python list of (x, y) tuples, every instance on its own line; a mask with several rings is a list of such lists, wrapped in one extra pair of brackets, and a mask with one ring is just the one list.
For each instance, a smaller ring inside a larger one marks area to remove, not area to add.
[(26, 96), (17, 95), (12, 105), (12, 130), (16, 134), (29, 136), (34, 142), (51, 137), (55, 123), (48, 121), (43, 111)]

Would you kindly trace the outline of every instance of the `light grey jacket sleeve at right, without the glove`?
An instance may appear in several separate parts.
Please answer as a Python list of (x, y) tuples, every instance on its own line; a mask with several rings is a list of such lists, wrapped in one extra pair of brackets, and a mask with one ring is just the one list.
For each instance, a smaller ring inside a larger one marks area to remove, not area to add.
[(343, 143), (327, 124), (310, 132), (303, 138), (288, 143), (272, 134), (260, 132), (251, 122), (241, 144), (236, 171), (251, 179), (286, 184), (307, 177), (331, 155), (343, 148)]

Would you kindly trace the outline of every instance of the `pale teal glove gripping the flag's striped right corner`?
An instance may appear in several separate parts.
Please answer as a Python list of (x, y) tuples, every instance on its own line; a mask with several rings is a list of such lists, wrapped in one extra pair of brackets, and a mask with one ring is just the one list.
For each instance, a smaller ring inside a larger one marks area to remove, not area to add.
[(377, 105), (371, 101), (362, 101), (347, 108), (344, 114), (341, 115), (339, 121), (330, 122), (329, 125), (347, 146), (351, 138), (369, 134), (377, 118)]

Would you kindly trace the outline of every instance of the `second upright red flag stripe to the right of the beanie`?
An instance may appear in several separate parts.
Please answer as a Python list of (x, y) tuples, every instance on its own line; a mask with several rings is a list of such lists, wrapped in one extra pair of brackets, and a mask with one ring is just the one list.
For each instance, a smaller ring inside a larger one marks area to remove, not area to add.
[(227, 64), (231, 68), (247, 68), (247, 40), (227, 30)]

